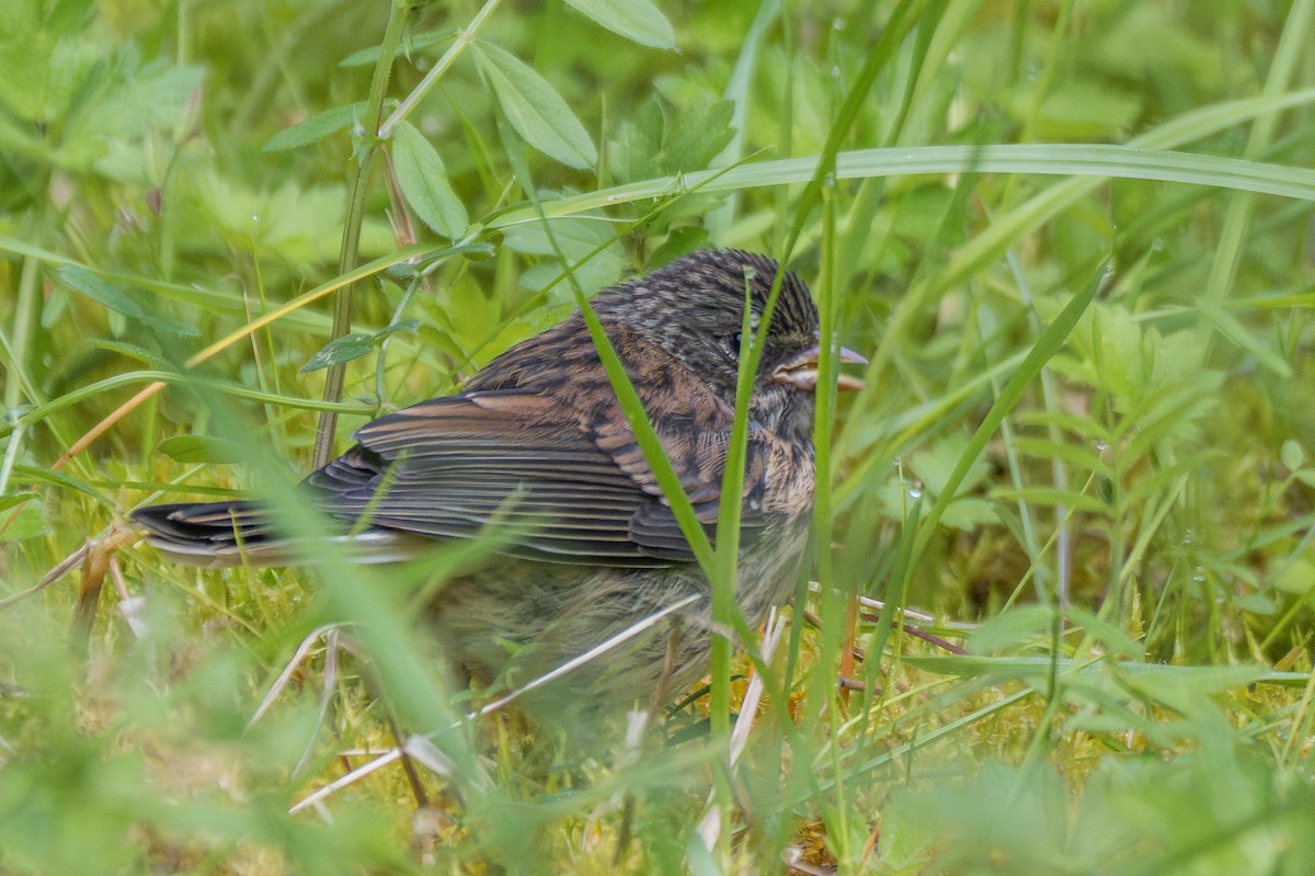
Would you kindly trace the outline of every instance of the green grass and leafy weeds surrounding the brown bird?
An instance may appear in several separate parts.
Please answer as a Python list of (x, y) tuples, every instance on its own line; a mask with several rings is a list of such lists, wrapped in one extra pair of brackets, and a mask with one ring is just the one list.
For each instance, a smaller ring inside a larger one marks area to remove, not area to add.
[[(1315, 869), (1315, 3), (581, 7), (0, 12), (0, 871)], [(705, 245), (872, 364), (819, 587), (630, 744), (462, 718), (417, 618), (488, 546), (121, 537), (313, 526), (351, 429)]]

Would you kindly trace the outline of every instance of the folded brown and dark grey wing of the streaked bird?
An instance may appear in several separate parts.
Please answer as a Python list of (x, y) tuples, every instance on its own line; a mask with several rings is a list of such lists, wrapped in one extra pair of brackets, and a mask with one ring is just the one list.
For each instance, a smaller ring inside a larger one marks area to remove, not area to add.
[[(715, 405), (664, 413), (650, 410), (711, 533), (730, 420)], [(550, 562), (654, 567), (693, 559), (619, 413), (590, 418), (533, 391), (476, 391), (381, 417), (356, 439), (308, 479), (335, 517), (434, 538), (512, 527), (504, 552)], [(747, 505), (765, 481), (765, 456), (751, 447)], [(761, 517), (746, 508), (746, 537)]]

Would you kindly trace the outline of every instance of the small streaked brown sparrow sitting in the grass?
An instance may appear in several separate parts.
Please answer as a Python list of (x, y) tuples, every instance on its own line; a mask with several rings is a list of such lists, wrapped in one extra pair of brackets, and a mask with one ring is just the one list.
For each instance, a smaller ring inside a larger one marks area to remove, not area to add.
[[(746, 300), (756, 330), (777, 270), (764, 255), (704, 250), (592, 301), (710, 538)], [(813, 510), (818, 355), (817, 306), (785, 272), (748, 400), (735, 593), (751, 627), (789, 598), (800, 571)], [(867, 362), (846, 349), (838, 355)], [(838, 385), (861, 383), (840, 375)], [(590, 694), (636, 698), (679, 693), (706, 672), (710, 585), (579, 312), (493, 359), (462, 392), (380, 417), (354, 438), (300, 489), (364, 560), (504, 527), (497, 556), (448, 581), (430, 613), (443, 651), (468, 679), (514, 688), (664, 609), (644, 634), (565, 679)], [(296, 559), (259, 502), (154, 505), (132, 517), (179, 563)]]

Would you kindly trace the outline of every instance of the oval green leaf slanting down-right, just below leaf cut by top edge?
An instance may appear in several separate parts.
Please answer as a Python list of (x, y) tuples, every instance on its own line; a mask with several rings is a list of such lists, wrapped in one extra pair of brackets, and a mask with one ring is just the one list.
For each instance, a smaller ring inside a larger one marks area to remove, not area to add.
[(593, 167), (598, 150), (547, 79), (497, 46), (477, 42), (471, 50), (508, 121), (525, 142), (567, 167)]

